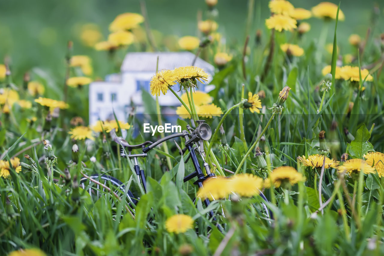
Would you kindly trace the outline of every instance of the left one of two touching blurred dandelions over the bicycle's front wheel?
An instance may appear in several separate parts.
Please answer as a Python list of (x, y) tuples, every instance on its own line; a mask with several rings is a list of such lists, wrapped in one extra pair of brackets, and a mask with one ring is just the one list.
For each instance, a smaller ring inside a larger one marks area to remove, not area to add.
[(197, 197), (210, 200), (222, 199), (229, 196), (231, 193), (230, 179), (222, 176), (209, 178), (204, 181), (203, 187), (197, 191)]

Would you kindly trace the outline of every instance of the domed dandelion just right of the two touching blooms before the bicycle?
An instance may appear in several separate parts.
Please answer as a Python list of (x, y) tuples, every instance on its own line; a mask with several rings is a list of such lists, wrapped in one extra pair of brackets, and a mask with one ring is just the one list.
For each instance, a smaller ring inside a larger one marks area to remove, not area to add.
[(269, 188), (271, 183), (276, 187), (282, 184), (294, 185), (299, 181), (305, 181), (305, 178), (295, 168), (291, 166), (280, 166), (274, 169), (269, 177), (265, 180), (264, 186)]

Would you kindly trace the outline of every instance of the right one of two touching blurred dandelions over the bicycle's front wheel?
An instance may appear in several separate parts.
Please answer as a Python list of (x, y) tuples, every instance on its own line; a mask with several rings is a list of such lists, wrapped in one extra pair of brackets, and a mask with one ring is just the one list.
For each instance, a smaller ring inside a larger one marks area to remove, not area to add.
[(260, 194), (263, 179), (250, 173), (234, 175), (230, 180), (230, 188), (239, 196), (251, 197)]

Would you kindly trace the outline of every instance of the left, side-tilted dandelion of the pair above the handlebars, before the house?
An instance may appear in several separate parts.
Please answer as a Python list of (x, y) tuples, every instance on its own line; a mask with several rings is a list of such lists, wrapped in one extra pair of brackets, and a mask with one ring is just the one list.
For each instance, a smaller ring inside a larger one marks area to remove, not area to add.
[(160, 92), (166, 95), (168, 86), (174, 85), (176, 79), (176, 75), (172, 70), (163, 69), (157, 71), (157, 73), (152, 76), (151, 82), (149, 83), (149, 90), (154, 96), (160, 96)]

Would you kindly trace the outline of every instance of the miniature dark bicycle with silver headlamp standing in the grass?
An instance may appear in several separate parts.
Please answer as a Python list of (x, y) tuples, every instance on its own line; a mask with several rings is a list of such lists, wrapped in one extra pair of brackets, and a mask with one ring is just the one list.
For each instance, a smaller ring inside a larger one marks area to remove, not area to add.
[[(211, 168), (208, 163), (205, 162), (205, 152), (204, 152), (204, 140), (207, 141), (212, 136), (212, 130), (210, 126), (205, 123), (204, 120), (197, 120), (198, 126), (193, 129), (190, 125), (187, 125), (187, 130), (183, 130), (181, 133), (174, 133), (172, 135), (165, 136), (164, 138), (161, 138), (160, 140), (152, 143), (151, 141), (144, 141), (141, 144), (137, 145), (129, 145), (126, 140), (124, 140), (121, 137), (115, 137), (114, 141), (118, 143), (118, 145), (121, 146), (120, 155), (124, 158), (133, 158), (134, 161), (134, 170), (135, 173), (144, 189), (144, 192), (147, 192), (147, 183), (146, 183), (146, 176), (144, 174), (144, 171), (141, 170), (139, 163), (137, 161), (138, 157), (146, 157), (148, 156), (147, 153), (154, 147), (160, 145), (164, 141), (182, 137), (185, 140), (185, 148), (182, 150), (183, 153), (185, 151), (189, 151), (189, 156), (185, 160), (185, 163), (190, 159), (192, 159), (192, 163), (194, 165), (195, 171), (190, 173), (189, 175), (184, 177), (184, 182), (187, 182), (195, 177), (197, 177), (197, 180), (194, 182), (194, 185), (197, 185), (199, 188), (203, 186), (203, 182), (208, 178), (214, 178), (215, 174), (211, 172)], [(148, 145), (148, 146), (147, 146)], [(142, 153), (139, 154), (132, 154), (132, 150), (142, 148)], [(200, 168), (199, 160), (197, 158), (197, 155), (195, 153), (195, 150), (199, 152), (199, 155), (203, 159), (203, 166), (205, 169), (205, 175), (203, 171)], [(95, 182), (96, 181), (96, 182)], [(136, 204), (139, 198), (134, 198), (131, 190), (125, 190), (125, 186), (123, 183), (116, 178), (109, 176), (109, 175), (90, 175), (85, 176), (81, 178), (80, 184), (83, 187), (83, 189), (87, 190), (88, 193), (91, 195), (92, 199), (98, 199), (103, 193), (101, 192), (100, 184), (103, 183), (103, 191), (105, 189), (105, 186), (108, 185), (108, 188), (111, 188), (113, 191), (118, 191), (118, 193), (122, 196), (126, 196), (127, 202), (129, 204)], [(264, 196), (264, 194), (260, 191), (260, 196), (266, 201), (269, 202), (268, 199)], [(210, 201), (209, 199), (204, 200), (205, 206), (209, 206)], [(265, 213), (268, 216), (268, 218), (273, 218), (271, 211), (266, 207), (264, 203), (263, 208), (265, 209)], [(210, 218), (213, 220), (216, 220), (214, 216), (214, 212), (211, 210), (209, 212)]]

